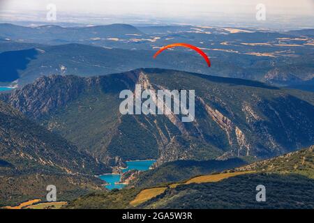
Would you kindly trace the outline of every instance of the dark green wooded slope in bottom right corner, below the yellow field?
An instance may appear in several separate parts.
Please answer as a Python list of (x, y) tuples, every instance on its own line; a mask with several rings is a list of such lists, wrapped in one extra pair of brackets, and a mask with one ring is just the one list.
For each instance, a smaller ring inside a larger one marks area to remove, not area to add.
[[(257, 202), (257, 185), (266, 187), (266, 202)], [(218, 183), (179, 185), (139, 208), (307, 208), (313, 209), (314, 180), (303, 176), (244, 174)]]

